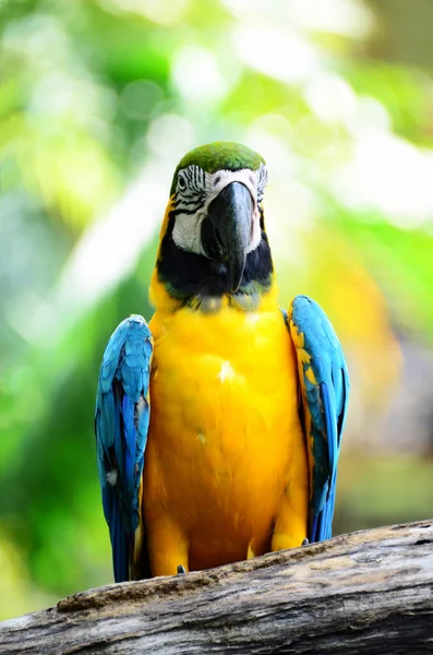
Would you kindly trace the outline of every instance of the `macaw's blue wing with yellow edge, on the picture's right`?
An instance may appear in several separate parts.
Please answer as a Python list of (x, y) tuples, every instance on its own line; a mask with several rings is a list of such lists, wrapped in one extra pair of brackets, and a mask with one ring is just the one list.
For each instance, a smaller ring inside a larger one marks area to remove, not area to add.
[(341, 345), (325, 312), (308, 296), (297, 296), (289, 313), (297, 350), (310, 463), (310, 543), (329, 539), (338, 455), (349, 397)]

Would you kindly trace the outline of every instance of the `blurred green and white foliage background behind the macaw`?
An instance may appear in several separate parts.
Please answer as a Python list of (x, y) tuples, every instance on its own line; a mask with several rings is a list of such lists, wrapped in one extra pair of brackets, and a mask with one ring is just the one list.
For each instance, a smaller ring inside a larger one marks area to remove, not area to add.
[(341, 336), (335, 532), (433, 515), (431, 0), (0, 0), (0, 618), (112, 580), (93, 412), (179, 158), (267, 160), (281, 288)]

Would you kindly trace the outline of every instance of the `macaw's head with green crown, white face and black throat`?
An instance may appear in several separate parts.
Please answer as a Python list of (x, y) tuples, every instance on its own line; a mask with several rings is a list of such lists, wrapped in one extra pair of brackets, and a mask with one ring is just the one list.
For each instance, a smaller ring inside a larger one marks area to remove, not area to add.
[(226, 297), (253, 309), (272, 284), (262, 206), (266, 179), (261, 155), (239, 143), (188, 153), (175, 171), (155, 284), (191, 307)]

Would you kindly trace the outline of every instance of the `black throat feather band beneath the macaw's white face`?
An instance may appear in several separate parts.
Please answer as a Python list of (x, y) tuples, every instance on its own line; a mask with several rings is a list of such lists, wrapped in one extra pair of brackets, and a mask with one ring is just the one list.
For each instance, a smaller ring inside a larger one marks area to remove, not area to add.
[(272, 284), (273, 261), (266, 233), (262, 226), (262, 238), (253, 251), (246, 255), (245, 269), (241, 285), (236, 294), (230, 293), (230, 274), (228, 264), (207, 259), (180, 249), (173, 241), (172, 230), (178, 212), (171, 211), (167, 231), (163, 237), (159, 257), (156, 263), (158, 279), (166, 286), (173, 298), (189, 300), (212, 297), (222, 297), (226, 294), (233, 298), (256, 295), (266, 291)]

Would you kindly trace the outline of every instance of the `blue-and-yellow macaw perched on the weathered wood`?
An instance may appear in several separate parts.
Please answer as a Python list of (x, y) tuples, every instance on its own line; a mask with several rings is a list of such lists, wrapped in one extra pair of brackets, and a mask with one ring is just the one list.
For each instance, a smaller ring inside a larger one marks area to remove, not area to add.
[(117, 582), (330, 537), (349, 377), (314, 300), (278, 307), (266, 179), (238, 143), (181, 159), (155, 313), (105, 350), (95, 425)]

